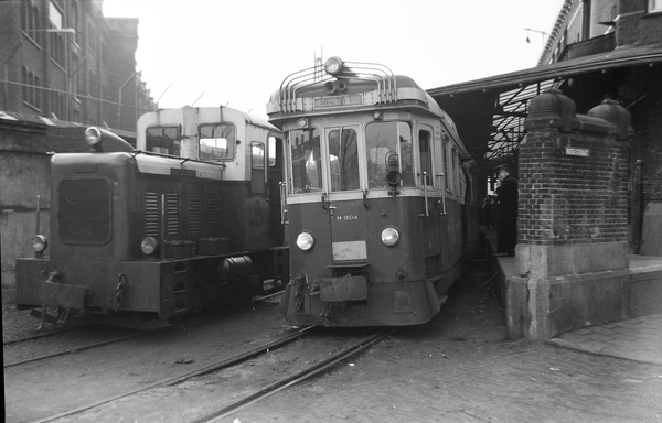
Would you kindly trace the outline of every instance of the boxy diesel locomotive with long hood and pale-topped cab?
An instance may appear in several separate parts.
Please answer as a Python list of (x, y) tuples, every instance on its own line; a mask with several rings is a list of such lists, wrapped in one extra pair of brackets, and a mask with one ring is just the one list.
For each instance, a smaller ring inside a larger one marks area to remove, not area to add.
[(93, 151), (51, 160), (51, 230), (17, 261), (19, 308), (150, 328), (285, 285), (274, 126), (185, 107), (142, 116), (137, 149), (104, 147), (121, 142), (98, 128), (86, 135)]

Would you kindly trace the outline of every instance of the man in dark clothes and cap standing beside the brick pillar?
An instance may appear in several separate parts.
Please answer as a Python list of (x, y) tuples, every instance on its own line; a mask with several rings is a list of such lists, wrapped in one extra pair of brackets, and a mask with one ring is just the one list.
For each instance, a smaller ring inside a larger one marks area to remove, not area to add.
[(514, 256), (517, 243), (517, 180), (506, 165), (500, 165), (498, 169), (500, 185), (496, 188), (499, 200), (496, 252)]

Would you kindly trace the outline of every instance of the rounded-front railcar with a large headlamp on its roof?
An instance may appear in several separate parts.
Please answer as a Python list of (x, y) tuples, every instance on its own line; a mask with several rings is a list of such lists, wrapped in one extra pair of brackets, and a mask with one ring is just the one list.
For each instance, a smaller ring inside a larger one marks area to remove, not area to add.
[(435, 316), (479, 242), (476, 162), (412, 78), (331, 57), (267, 105), (284, 131), (291, 325), (406, 326)]

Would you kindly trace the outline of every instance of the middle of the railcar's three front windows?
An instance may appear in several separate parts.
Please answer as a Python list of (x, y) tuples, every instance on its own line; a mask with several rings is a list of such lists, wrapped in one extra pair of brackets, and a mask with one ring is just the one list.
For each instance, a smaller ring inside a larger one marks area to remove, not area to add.
[(331, 191), (359, 189), (359, 150), (353, 129), (329, 132), (329, 164)]

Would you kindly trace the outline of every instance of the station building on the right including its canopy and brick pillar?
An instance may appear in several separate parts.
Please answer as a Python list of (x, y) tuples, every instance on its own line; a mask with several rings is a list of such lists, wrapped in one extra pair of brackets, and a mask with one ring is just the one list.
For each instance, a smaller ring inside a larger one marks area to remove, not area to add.
[(662, 312), (662, 1), (565, 0), (546, 34), (535, 67), (428, 90), (520, 180), (513, 338)]

